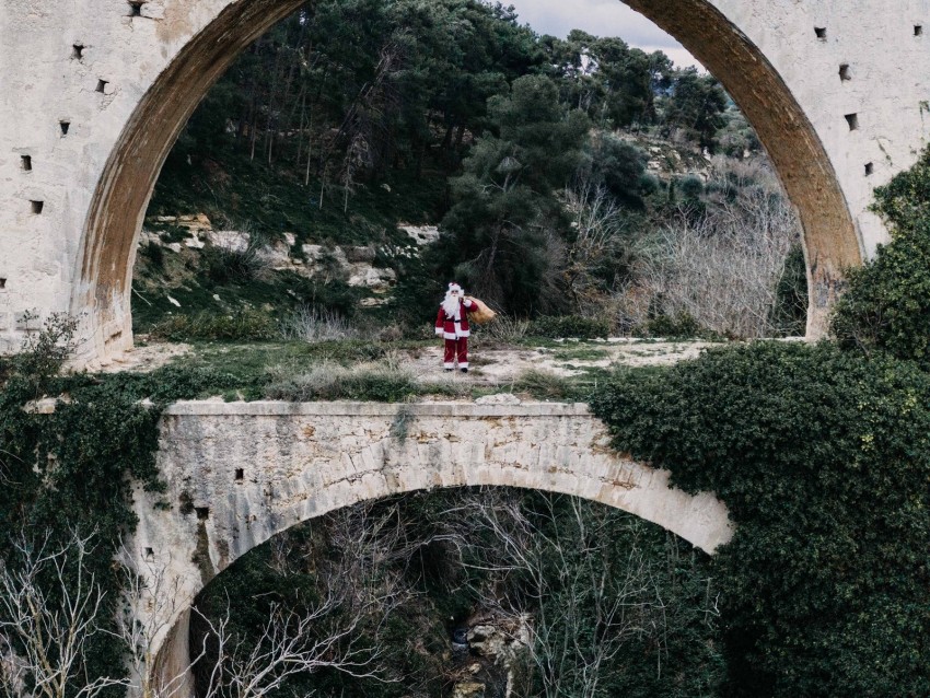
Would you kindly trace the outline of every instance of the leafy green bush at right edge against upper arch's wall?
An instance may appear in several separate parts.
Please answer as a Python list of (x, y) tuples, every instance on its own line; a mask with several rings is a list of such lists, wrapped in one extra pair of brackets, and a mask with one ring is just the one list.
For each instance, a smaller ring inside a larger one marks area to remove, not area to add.
[(875, 190), (892, 242), (870, 264), (848, 272), (833, 330), (840, 342), (887, 351), (930, 369), (930, 151)]

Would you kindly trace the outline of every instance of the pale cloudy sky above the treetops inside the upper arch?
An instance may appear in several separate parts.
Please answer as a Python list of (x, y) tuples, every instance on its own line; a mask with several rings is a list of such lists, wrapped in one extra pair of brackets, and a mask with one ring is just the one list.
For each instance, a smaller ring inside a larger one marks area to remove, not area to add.
[(571, 30), (594, 36), (618, 36), (646, 51), (661, 50), (679, 68), (700, 63), (678, 42), (619, 0), (502, 0), (512, 4), (521, 24), (537, 34), (565, 38)]

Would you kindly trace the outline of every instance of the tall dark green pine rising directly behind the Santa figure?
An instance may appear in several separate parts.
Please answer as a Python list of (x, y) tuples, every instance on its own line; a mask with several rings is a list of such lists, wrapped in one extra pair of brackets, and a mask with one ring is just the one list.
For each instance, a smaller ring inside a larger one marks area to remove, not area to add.
[(551, 80), (525, 75), (511, 94), (489, 101), (497, 135), (481, 138), (465, 160), (443, 219), (451, 244), (442, 266), (508, 311), (558, 307), (559, 289), (546, 282), (554, 266), (547, 235), (558, 234), (563, 216), (555, 193), (581, 164), (590, 125), (557, 94)]

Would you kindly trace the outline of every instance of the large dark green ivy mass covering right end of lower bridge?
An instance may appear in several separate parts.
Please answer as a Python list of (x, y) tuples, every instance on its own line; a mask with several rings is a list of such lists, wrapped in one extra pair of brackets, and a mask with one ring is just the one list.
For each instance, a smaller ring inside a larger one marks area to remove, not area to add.
[(725, 695), (930, 695), (930, 375), (757, 342), (624, 374), (593, 409), (618, 449), (730, 510)]

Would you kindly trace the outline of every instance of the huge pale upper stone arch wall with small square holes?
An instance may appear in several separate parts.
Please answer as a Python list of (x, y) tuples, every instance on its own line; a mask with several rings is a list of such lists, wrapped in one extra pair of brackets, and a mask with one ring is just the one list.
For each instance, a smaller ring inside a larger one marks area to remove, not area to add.
[[(233, 58), (303, 0), (3, 0), (0, 351), (50, 312), (81, 360), (132, 345), (144, 210), (179, 130)], [(755, 126), (798, 207), (809, 336), (886, 232), (875, 185), (930, 129), (930, 0), (627, 0), (682, 42)]]

